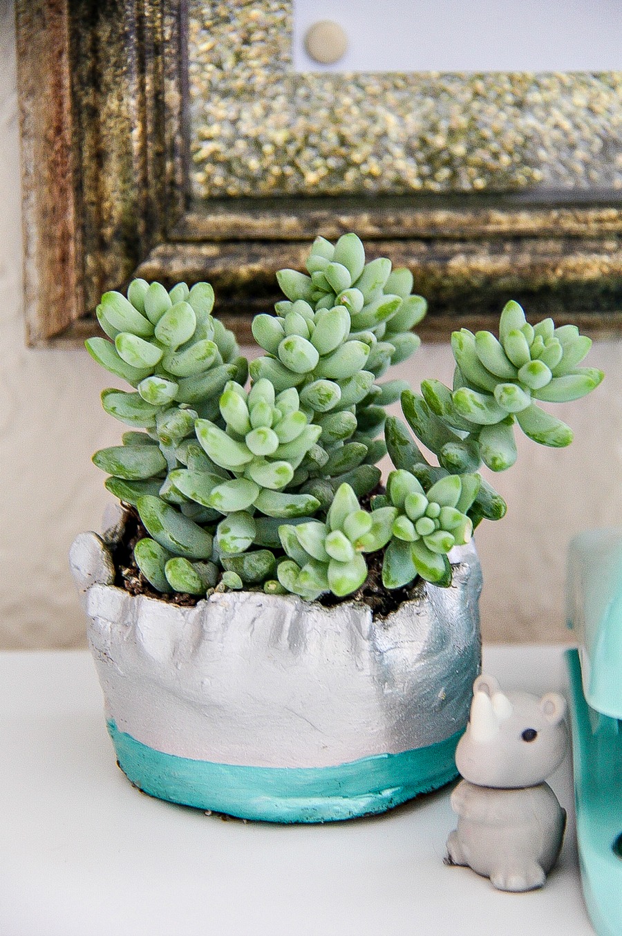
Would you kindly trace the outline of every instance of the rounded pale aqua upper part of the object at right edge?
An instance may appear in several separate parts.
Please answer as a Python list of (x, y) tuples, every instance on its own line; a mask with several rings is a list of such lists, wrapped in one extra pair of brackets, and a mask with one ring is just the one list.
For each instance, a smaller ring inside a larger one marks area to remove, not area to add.
[[(622, 718), (622, 529), (586, 530), (571, 541), (568, 619), (590, 708)], [(622, 898), (621, 898), (622, 901)]]

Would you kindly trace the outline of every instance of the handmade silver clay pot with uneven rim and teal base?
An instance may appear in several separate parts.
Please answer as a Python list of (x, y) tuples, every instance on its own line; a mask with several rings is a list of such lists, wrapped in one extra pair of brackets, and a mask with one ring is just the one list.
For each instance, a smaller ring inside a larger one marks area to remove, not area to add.
[(129, 780), (154, 797), (272, 822), (383, 812), (457, 776), (480, 665), (481, 571), (450, 557), (384, 620), (366, 605), (212, 594), (178, 607), (114, 587), (108, 547), (80, 534), (74, 578)]

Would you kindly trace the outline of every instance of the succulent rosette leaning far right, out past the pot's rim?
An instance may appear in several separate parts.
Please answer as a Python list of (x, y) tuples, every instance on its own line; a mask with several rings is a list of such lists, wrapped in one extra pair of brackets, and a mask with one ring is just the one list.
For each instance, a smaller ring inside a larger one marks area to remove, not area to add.
[(591, 341), (552, 318), (531, 326), (517, 302), (501, 313), (499, 339), (489, 331), (455, 331), (453, 389), (426, 380), (421, 395), (402, 396), (404, 416), (448, 471), (476, 471), (482, 462), (505, 471), (516, 461), (514, 425), (543, 446), (570, 445), (570, 426), (539, 402), (569, 402), (598, 387), (603, 374), (577, 365)]

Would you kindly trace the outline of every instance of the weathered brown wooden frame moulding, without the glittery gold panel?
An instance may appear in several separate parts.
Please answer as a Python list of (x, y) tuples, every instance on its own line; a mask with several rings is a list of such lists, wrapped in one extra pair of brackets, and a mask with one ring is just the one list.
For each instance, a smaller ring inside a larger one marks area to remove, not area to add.
[[(275, 271), (300, 268), (316, 233), (347, 230), (369, 256), (414, 271), (430, 302), (425, 340), (487, 327), (509, 298), (594, 336), (622, 332), (622, 192), (611, 186), (503, 194), (493, 178), (484, 191), (435, 183), (409, 194), (359, 179), (320, 197), (312, 181), (196, 197), (187, 30), (198, 2), (17, 0), (28, 344), (80, 344), (99, 295), (134, 274), (209, 278), (219, 314), (249, 340), (253, 314), (277, 298)], [(453, 158), (450, 179), (468, 181)]]

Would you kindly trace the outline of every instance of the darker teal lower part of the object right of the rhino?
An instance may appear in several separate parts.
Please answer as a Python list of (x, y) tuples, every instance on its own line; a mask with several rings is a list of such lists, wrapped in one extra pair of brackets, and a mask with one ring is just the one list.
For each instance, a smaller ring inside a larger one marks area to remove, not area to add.
[(571, 677), (572, 759), (583, 891), (598, 936), (620, 936), (622, 723), (587, 705), (579, 654), (567, 651), (566, 656)]

